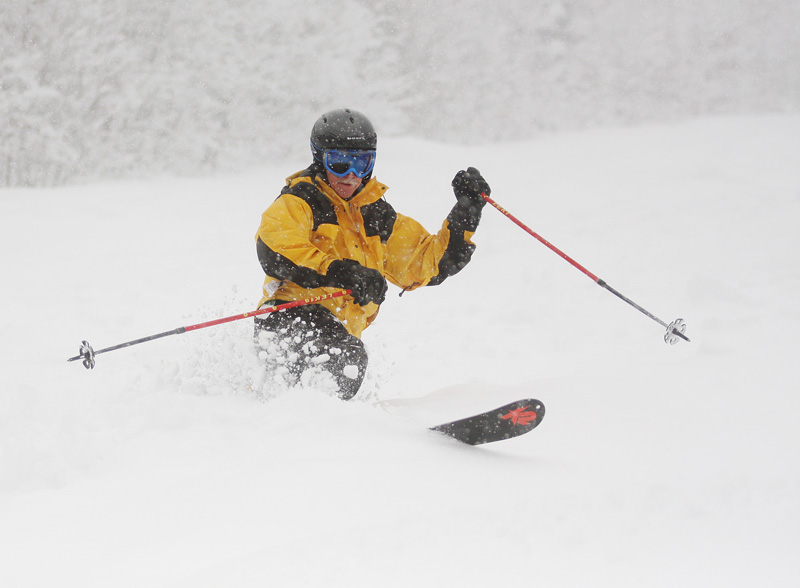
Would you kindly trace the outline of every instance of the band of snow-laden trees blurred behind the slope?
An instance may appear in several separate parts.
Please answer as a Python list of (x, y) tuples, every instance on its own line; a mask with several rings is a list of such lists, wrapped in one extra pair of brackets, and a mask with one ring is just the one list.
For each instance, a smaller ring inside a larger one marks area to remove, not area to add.
[(0, 186), (307, 157), (323, 111), (381, 133), (800, 108), (800, 2), (6, 0)]

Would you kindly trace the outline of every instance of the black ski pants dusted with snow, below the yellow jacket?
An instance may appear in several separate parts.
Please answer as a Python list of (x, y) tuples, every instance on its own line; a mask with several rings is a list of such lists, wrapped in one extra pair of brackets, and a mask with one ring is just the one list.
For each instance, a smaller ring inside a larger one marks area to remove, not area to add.
[[(283, 302), (270, 300), (263, 306)], [(322, 305), (296, 306), (255, 317), (254, 338), (266, 352), (269, 367), (285, 367), (294, 380), (307, 369), (327, 371), (344, 400), (355, 396), (364, 381), (368, 361), (364, 344)]]

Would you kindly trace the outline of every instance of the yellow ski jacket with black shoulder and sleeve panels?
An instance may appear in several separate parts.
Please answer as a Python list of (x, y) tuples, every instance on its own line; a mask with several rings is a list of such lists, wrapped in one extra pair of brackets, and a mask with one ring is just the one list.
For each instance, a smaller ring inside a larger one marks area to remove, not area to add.
[[(383, 198), (387, 187), (370, 179), (345, 201), (315, 167), (286, 179), (281, 195), (261, 217), (256, 250), (266, 273), (265, 302), (330, 294), (325, 274), (337, 259), (376, 269), (404, 290), (440, 284), (470, 260), (480, 211), (456, 204), (436, 234), (398, 214)], [(378, 314), (378, 305), (357, 305), (350, 296), (319, 302), (356, 337)]]

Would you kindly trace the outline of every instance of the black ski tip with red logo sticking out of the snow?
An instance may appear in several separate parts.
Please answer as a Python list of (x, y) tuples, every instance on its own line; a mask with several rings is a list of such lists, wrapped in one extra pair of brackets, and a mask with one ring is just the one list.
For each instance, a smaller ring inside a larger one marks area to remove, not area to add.
[(544, 418), (544, 404), (525, 399), (494, 410), (430, 427), (467, 445), (494, 443), (519, 437), (535, 429)]

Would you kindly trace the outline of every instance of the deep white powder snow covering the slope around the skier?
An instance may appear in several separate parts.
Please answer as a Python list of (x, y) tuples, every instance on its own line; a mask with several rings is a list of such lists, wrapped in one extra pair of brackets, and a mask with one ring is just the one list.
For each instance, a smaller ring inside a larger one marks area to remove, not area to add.
[[(472, 263), (390, 290), (344, 403), (265, 379), (260, 214), (295, 169), (0, 195), (0, 585), (800, 584), (800, 117), (455, 148), (381, 145), (438, 228), (492, 196), (691, 343), (487, 207)], [(305, 165), (299, 161), (295, 166)], [(521, 397), (529, 435), (427, 425)]]

